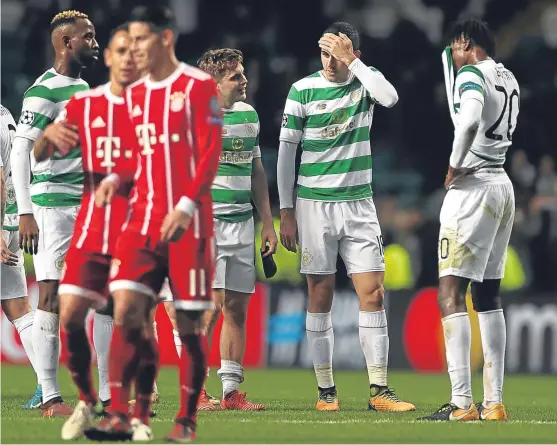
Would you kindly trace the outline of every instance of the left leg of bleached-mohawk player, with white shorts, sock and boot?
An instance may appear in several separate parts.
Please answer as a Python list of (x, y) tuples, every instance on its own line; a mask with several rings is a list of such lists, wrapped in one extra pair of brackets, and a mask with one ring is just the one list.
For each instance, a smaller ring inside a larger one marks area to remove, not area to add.
[(33, 348), (36, 351), (37, 365), (42, 369), (41, 409), (45, 417), (69, 416), (72, 411), (63, 403), (58, 385), (58, 285), (78, 208), (34, 206), (33, 210), (41, 233), (38, 253), (33, 258), (39, 283), (39, 303), (33, 324)]

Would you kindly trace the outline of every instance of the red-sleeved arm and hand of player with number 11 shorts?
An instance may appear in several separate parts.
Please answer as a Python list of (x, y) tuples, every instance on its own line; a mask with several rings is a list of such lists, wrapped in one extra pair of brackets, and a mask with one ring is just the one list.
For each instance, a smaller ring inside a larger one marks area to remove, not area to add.
[(210, 193), (222, 152), (222, 112), (213, 79), (194, 85), (191, 91), (192, 151), (197, 157), (195, 173), (184, 195), (161, 227), (162, 241), (177, 241), (187, 230), (201, 199)]

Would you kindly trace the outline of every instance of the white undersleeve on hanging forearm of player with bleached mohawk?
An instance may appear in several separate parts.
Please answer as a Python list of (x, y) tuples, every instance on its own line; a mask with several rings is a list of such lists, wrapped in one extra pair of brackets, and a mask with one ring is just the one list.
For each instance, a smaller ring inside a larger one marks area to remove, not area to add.
[(20, 215), (33, 213), (30, 191), (31, 162), (29, 159), (32, 149), (32, 140), (22, 137), (14, 139), (10, 161), (12, 164), (12, 182)]

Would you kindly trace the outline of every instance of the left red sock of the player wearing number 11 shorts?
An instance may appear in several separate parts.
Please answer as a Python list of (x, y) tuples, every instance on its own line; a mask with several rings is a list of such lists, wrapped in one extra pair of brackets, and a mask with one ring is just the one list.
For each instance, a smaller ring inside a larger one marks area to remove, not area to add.
[(110, 342), (108, 356), (110, 410), (126, 416), (131, 385), (139, 363), (138, 346), (141, 334), (141, 329), (127, 329), (124, 326), (114, 325)]

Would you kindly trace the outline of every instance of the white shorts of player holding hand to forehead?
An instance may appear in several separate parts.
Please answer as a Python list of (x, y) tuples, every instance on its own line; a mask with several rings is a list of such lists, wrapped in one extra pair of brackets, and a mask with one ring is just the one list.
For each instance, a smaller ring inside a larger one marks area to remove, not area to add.
[(373, 199), (296, 203), (300, 272), (329, 275), (340, 253), (348, 275), (385, 270), (383, 237)]

